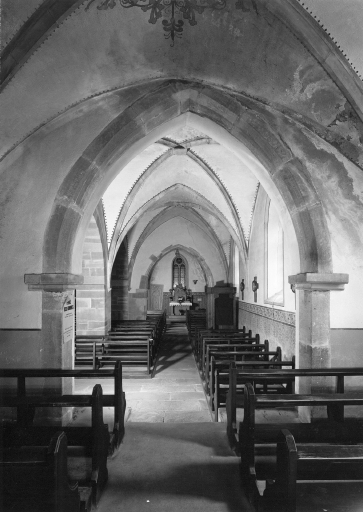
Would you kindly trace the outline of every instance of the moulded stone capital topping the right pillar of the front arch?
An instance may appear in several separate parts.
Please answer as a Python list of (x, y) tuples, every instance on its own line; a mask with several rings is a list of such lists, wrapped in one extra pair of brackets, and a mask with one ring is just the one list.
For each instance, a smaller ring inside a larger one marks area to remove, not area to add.
[(289, 276), (289, 283), (294, 285), (296, 290), (339, 291), (344, 290), (345, 285), (349, 283), (349, 274), (305, 272)]

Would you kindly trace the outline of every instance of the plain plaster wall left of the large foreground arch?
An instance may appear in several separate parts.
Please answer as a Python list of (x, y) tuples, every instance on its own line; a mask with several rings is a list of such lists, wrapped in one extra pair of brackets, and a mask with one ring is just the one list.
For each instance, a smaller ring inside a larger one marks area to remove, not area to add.
[[(27, 290), (24, 274), (44, 271), (44, 233), (54, 197), (79, 153), (110, 122), (118, 101), (96, 99), (70, 116), (59, 116), (0, 163), (0, 236), (6, 240), (0, 244), (1, 287), (6, 290), (0, 301), (2, 328), (41, 328), (41, 294)], [(74, 272), (81, 273), (81, 248), (77, 257)]]

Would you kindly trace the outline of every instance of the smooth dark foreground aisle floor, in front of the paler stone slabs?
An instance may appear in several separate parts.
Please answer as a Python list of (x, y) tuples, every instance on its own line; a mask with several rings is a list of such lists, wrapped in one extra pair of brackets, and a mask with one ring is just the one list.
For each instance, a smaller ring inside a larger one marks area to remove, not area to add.
[(251, 512), (221, 423), (128, 423), (97, 512)]

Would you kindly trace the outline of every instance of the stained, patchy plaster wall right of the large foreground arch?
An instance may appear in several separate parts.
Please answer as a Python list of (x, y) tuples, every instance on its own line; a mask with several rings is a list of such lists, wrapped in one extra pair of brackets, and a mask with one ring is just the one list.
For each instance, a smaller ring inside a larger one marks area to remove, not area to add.
[(303, 155), (297, 147), (297, 154), (309, 171), (326, 212), (333, 271), (349, 274), (344, 291), (330, 294), (331, 327), (359, 329), (363, 327), (362, 170), (321, 139), (305, 134), (300, 141), (307, 144), (308, 152)]

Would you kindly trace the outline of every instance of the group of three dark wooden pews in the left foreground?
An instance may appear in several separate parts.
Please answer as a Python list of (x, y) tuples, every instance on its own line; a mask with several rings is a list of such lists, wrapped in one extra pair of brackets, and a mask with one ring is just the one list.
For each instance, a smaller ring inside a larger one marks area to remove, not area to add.
[[(33, 395), (34, 378), (111, 378), (114, 394), (103, 395), (96, 384), (92, 395)], [(16, 409), (16, 421), (1, 427), (0, 473), (5, 511), (89, 511), (96, 507), (108, 479), (107, 457), (114, 455), (124, 436), (125, 394), (122, 366), (113, 370), (2, 369), (1, 379), (16, 379), (15, 393), (2, 393), (0, 407)], [(91, 425), (54, 426), (35, 423), (36, 408), (90, 407)], [(103, 422), (103, 408), (114, 408), (111, 432)]]

